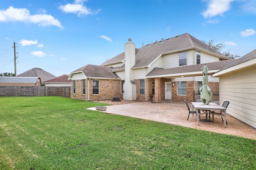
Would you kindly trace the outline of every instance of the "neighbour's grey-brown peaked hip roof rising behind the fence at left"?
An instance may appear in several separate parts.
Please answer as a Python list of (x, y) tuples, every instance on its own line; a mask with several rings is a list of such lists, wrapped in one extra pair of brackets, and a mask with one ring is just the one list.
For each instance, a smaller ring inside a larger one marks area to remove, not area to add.
[(44, 71), (42, 68), (32, 68), (17, 75), (17, 77), (39, 77), (42, 82), (56, 78), (56, 76)]

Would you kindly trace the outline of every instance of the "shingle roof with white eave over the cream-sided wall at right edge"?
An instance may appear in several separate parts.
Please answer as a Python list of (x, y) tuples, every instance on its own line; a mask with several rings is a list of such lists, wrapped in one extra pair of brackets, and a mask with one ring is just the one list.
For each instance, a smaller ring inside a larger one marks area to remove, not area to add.
[[(220, 74), (230, 72), (230, 71), (239, 69), (241, 67), (251, 66), (253, 64), (256, 65), (256, 49), (244, 55), (243, 57), (240, 57), (239, 59), (232, 60), (230, 64), (224, 66), (222, 69), (216, 72), (213, 76), (218, 76)], [(238, 66), (238, 65), (242, 65), (242, 66)]]

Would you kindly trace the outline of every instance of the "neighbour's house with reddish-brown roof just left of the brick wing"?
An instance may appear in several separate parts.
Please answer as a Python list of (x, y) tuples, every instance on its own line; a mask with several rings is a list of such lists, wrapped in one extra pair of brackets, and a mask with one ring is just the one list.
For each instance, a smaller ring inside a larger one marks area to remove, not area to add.
[(71, 86), (71, 81), (68, 80), (68, 77), (68, 74), (63, 74), (62, 76), (47, 80), (43, 83), (45, 84), (45, 86)]

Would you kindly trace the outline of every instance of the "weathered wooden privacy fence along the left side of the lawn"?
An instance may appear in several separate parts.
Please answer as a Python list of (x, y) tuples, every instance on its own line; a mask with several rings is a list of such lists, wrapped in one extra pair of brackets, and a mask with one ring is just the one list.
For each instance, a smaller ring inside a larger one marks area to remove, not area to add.
[(69, 86), (0, 86), (0, 96), (61, 96), (70, 98)]

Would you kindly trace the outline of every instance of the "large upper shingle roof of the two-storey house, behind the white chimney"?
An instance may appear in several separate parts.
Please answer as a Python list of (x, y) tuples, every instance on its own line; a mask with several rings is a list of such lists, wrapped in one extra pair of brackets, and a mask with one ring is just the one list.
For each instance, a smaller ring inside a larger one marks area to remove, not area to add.
[[(135, 65), (132, 68), (148, 66), (152, 61), (162, 54), (172, 53), (176, 51), (182, 51), (187, 49), (200, 49), (202, 51), (218, 55), (222, 59), (229, 59), (222, 53), (206, 45), (202, 41), (196, 39), (188, 33), (178, 35), (176, 37), (163, 39), (162, 41), (157, 41), (136, 49), (135, 55)], [(124, 60), (124, 52), (117, 55), (116, 57), (102, 63), (101, 65), (108, 65), (118, 63)]]

